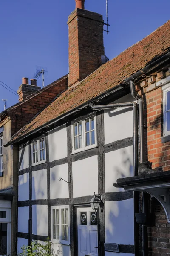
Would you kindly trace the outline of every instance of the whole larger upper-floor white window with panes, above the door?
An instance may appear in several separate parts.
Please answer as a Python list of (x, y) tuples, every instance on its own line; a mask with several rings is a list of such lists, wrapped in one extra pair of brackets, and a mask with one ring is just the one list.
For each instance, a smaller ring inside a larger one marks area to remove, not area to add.
[(85, 116), (72, 123), (73, 152), (96, 146), (96, 116)]

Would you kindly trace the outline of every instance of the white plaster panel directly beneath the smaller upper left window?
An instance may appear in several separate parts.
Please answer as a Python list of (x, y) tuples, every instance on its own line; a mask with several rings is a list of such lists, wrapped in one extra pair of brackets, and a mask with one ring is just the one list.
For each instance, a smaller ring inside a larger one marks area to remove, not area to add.
[(47, 199), (47, 170), (32, 172), (32, 200)]

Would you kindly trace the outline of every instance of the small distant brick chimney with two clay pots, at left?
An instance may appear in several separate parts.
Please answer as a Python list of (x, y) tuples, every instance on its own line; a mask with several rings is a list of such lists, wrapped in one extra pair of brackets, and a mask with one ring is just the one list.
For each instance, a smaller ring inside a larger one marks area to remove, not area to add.
[(41, 89), (41, 87), (37, 86), (36, 79), (30, 79), (30, 81), (31, 85), (29, 84), (29, 79), (27, 77), (22, 78), (22, 84), (17, 90), (19, 102)]

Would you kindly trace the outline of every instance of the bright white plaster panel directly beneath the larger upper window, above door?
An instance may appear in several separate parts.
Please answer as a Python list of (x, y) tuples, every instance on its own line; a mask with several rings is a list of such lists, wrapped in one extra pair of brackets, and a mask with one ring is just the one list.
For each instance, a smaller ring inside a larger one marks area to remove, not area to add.
[(98, 194), (97, 156), (73, 162), (73, 196)]

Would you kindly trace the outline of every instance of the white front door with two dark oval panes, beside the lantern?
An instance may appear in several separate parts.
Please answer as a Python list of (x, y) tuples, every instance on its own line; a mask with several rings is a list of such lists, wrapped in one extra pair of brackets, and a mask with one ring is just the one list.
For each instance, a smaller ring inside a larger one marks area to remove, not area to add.
[(97, 212), (77, 209), (78, 256), (98, 256)]

